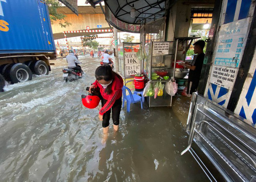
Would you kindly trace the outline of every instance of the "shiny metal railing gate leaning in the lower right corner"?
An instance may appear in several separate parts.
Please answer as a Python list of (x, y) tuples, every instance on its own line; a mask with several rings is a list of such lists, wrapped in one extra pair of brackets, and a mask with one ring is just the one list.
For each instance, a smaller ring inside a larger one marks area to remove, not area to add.
[(189, 151), (211, 181), (217, 181), (192, 148), (193, 141), (227, 181), (256, 179), (256, 127), (251, 122), (193, 93), (187, 121)]

